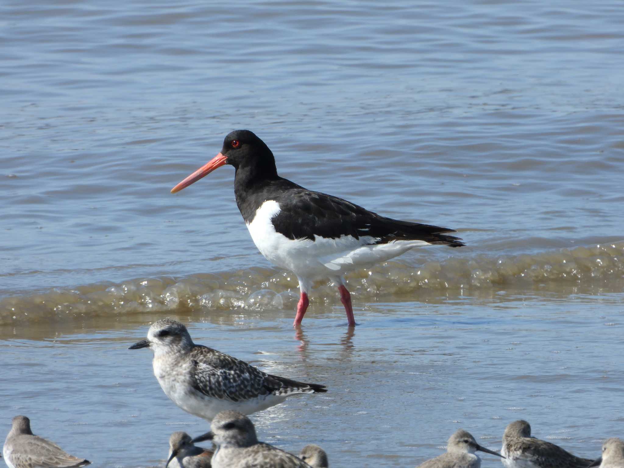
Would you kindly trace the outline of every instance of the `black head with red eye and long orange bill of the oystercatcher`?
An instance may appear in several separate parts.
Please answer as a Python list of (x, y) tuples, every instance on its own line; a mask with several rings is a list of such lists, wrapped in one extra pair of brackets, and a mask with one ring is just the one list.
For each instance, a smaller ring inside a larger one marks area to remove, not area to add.
[(265, 142), (250, 130), (234, 130), (223, 140), (221, 152), (173, 187), (171, 193), (180, 192), (225, 164), (233, 165), (237, 170), (241, 165), (246, 164), (256, 167), (260, 172), (277, 174), (275, 158)]

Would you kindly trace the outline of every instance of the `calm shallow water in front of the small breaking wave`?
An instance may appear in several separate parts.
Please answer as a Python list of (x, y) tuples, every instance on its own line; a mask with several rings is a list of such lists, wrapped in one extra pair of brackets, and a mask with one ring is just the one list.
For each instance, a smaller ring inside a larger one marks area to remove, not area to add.
[[(538, 437), (598, 456), (603, 434), (624, 422), (621, 299), (500, 291), (374, 303), (353, 334), (338, 307), (312, 307), (302, 336), (278, 310), (180, 318), (197, 343), (328, 385), (254, 415), (262, 439), (291, 451), (318, 442), (335, 466), (398, 467), (439, 454), (457, 427), (500, 449), (505, 425), (520, 418)], [(3, 414), (31, 414), (36, 433), (100, 466), (162, 466), (171, 432), (207, 424), (168, 401), (149, 351), (126, 349), (146, 331), (131, 317), (6, 337)]]

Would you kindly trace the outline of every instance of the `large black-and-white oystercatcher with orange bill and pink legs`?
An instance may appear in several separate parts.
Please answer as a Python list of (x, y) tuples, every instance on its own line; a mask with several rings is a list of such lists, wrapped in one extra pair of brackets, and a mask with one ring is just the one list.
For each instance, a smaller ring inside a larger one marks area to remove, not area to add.
[(449, 228), (393, 220), (342, 198), (311, 192), (280, 177), (273, 153), (249, 130), (235, 130), (221, 152), (172, 188), (179, 192), (225, 164), (233, 165), (236, 205), (253, 242), (274, 265), (297, 275), (301, 296), (293, 326), (308, 308), (313, 282), (338, 284), (349, 326), (355, 325), (344, 274), (389, 260), (414, 247), (465, 245)]

